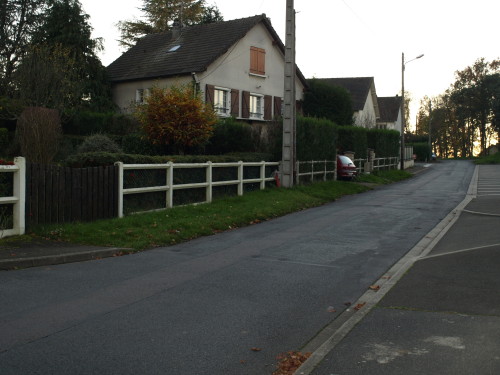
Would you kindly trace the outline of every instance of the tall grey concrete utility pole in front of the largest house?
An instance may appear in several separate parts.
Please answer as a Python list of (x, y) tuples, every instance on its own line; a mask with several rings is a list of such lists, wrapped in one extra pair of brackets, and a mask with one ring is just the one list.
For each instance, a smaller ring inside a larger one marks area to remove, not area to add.
[(293, 0), (286, 1), (285, 83), (283, 105), (281, 179), (283, 187), (292, 187), (295, 177), (296, 161), (295, 9)]

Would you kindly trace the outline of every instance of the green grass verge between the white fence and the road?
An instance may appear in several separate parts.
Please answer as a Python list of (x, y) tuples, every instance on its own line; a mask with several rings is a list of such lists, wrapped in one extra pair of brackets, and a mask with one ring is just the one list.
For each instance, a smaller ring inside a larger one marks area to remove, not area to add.
[[(408, 172), (390, 172), (377, 174), (378, 183), (388, 183), (391, 179), (398, 181), (411, 176)], [(219, 199), (211, 204), (174, 207), (129, 215), (122, 219), (39, 226), (33, 229), (32, 236), (139, 251), (257, 224), (367, 190), (370, 190), (370, 187), (346, 181), (320, 182), (292, 189), (266, 189), (246, 193), (241, 197)], [(2, 241), (4, 240), (0, 240), (0, 245)]]

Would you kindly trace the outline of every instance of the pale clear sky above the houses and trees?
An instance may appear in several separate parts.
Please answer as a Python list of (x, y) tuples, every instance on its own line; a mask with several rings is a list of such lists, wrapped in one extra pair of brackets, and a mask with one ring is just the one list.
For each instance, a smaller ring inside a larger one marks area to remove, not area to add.
[[(142, 0), (80, 0), (107, 66), (124, 50), (116, 23), (140, 18)], [(207, 0), (225, 20), (265, 13), (285, 41), (286, 0)], [(296, 63), (306, 78), (374, 77), (378, 96), (410, 92), (410, 123), (420, 100), (443, 94), (455, 72), (500, 57), (498, 0), (294, 0)], [(413, 60), (418, 55), (424, 56)], [(410, 61), (413, 60), (413, 61)]]

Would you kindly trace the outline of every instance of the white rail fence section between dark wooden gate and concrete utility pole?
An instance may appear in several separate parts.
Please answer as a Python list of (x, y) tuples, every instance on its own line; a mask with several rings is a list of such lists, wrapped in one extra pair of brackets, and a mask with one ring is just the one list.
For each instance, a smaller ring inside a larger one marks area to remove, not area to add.
[[(266, 187), (267, 181), (274, 181), (275, 177), (273, 175), (266, 176), (266, 167), (276, 166), (278, 169), (278, 162), (248, 162), (244, 163), (242, 161), (236, 163), (166, 163), (166, 164), (123, 164), (121, 162), (116, 163), (119, 167), (118, 172), (118, 217), (123, 217), (123, 197), (127, 194), (141, 194), (141, 193), (152, 193), (152, 192), (165, 192), (165, 207), (173, 207), (174, 202), (174, 191), (182, 189), (196, 189), (205, 188), (205, 201), (202, 203), (209, 203), (212, 201), (213, 188), (216, 186), (229, 186), (237, 185), (238, 195), (243, 195), (243, 186), (248, 183), (259, 183), (260, 189)], [(225, 181), (213, 181), (212, 171), (214, 168), (227, 168), (236, 167), (238, 168), (238, 178), (236, 180), (225, 180)], [(260, 167), (259, 178), (244, 179), (243, 171), (245, 167)], [(174, 171), (175, 169), (187, 169), (187, 168), (205, 168), (205, 181), (190, 184), (174, 184)], [(124, 171), (125, 170), (146, 170), (146, 169), (156, 169), (166, 171), (166, 180), (164, 185), (158, 186), (148, 186), (139, 188), (124, 188)]]

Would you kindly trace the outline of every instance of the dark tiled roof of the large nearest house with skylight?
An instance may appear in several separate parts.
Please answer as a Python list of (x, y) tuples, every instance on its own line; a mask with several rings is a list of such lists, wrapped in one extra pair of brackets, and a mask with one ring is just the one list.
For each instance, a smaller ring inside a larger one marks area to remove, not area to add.
[[(124, 82), (203, 72), (259, 23), (267, 28), (284, 55), (283, 42), (262, 14), (183, 27), (177, 38), (172, 30), (146, 35), (107, 67), (108, 76), (111, 82)], [(306, 86), (298, 69), (297, 76)]]

